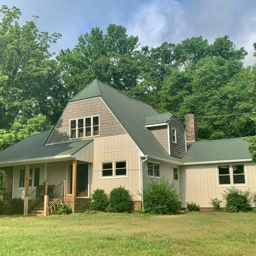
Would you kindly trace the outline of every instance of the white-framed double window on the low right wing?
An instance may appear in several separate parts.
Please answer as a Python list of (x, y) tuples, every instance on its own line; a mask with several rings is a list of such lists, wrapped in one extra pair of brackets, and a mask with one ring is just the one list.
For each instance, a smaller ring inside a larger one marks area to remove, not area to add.
[(218, 166), (218, 178), (219, 185), (245, 184), (244, 164)]

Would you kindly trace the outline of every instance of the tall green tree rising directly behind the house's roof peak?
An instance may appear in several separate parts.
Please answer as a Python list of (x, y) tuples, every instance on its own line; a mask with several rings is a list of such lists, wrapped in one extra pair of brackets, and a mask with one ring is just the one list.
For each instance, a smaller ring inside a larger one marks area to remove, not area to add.
[(128, 37), (126, 28), (115, 24), (109, 24), (106, 34), (96, 27), (79, 36), (73, 50), (61, 50), (56, 57), (67, 92), (74, 95), (95, 78), (118, 90), (131, 89), (138, 77), (137, 46), (138, 37)]

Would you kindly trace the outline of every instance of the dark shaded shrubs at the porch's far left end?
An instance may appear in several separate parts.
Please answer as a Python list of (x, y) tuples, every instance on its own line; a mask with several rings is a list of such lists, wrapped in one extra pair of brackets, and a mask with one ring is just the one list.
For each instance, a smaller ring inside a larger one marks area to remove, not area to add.
[(24, 211), (24, 200), (21, 198), (12, 198), (8, 200), (0, 200), (0, 215), (22, 214)]

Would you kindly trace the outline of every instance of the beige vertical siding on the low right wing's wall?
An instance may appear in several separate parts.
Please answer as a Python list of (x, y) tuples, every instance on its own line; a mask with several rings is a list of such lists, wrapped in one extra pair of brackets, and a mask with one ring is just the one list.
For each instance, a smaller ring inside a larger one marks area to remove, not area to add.
[[(231, 163), (236, 164), (236, 162)], [(244, 164), (247, 179), (247, 186), (236, 186), (241, 190), (250, 188), (256, 191), (256, 164), (253, 162), (239, 163)], [(184, 165), (180, 168), (182, 203), (185, 207), (186, 202), (196, 202), (200, 207), (212, 207), (210, 198), (222, 200), (222, 193), (231, 186), (218, 187), (217, 165), (229, 164), (198, 164)]]

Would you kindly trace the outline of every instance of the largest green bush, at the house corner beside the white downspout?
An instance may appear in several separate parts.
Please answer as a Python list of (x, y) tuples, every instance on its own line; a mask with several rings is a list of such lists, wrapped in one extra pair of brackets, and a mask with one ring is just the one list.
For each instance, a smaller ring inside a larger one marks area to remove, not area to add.
[(176, 182), (149, 178), (143, 190), (143, 211), (150, 214), (170, 214), (180, 210), (180, 194), (177, 194)]

